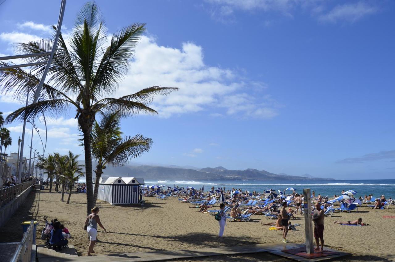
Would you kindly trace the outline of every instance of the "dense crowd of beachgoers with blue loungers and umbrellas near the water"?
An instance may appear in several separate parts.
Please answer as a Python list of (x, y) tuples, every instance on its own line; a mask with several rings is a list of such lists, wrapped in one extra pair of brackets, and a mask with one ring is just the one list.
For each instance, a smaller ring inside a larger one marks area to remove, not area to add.
[[(174, 186), (172, 188), (170, 186), (154, 185), (146, 187), (143, 194), (145, 196), (156, 196), (157, 199), (178, 197), (179, 201), (192, 204), (190, 208), (198, 208), (200, 213), (210, 213), (212, 215), (215, 215), (219, 210), (210, 210), (210, 208), (219, 203), (224, 203), (224, 212), (228, 221), (245, 222), (248, 222), (252, 215), (265, 215), (269, 218), (278, 219), (280, 208), (284, 202), (287, 204), (287, 219), (294, 219), (298, 213), (303, 214), (304, 209), (302, 207), (305, 203), (303, 194), (298, 194), (295, 188), (287, 188), (282, 191), (268, 189), (265, 192), (248, 192), (236, 188), (225, 190), (225, 187), (216, 189), (212, 187), (210, 191), (205, 192), (204, 187), (196, 189), (194, 187), (179, 188)], [(339, 195), (335, 194), (333, 197), (328, 197), (316, 194), (313, 190), (310, 196), (312, 211), (315, 209), (316, 202), (320, 203), (321, 209), (327, 216), (331, 216), (337, 211), (351, 212), (357, 210), (362, 204), (366, 204), (372, 209), (385, 209), (395, 204), (391, 197), (386, 199), (384, 195), (373, 197), (369, 194), (365, 197), (357, 197), (357, 194), (354, 190), (342, 190)], [(340, 207), (335, 207), (337, 203)], [(273, 226), (280, 227), (275, 223)]]

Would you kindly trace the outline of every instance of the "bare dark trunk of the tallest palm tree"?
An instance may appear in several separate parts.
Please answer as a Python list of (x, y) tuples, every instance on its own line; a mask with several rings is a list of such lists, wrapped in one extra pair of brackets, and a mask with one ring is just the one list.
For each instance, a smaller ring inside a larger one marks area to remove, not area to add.
[[(83, 129), (81, 127), (81, 129)], [(87, 215), (90, 209), (94, 207), (93, 202), (93, 185), (92, 185), (92, 151), (90, 142), (90, 128), (84, 128), (84, 151), (85, 151), (85, 178), (87, 180)]]

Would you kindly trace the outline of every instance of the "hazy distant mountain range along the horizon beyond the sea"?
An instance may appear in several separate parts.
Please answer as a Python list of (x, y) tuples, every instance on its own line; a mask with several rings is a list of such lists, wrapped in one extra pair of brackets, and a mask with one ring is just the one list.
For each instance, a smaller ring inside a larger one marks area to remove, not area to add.
[[(93, 163), (93, 168), (95, 163)], [(199, 181), (199, 180), (333, 180), (332, 178), (317, 178), (308, 174), (290, 176), (274, 174), (265, 170), (248, 168), (246, 170), (228, 170), (219, 166), (206, 167), (179, 167), (175, 165), (125, 165), (122, 167), (107, 166), (103, 170), (104, 177), (143, 177), (145, 180), (173, 180), (173, 181)]]

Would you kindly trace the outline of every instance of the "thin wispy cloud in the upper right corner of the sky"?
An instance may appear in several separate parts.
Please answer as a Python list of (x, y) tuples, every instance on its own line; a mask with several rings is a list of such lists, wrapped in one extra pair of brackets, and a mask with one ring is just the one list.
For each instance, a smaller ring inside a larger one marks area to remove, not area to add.
[(348, 21), (354, 23), (378, 11), (376, 6), (372, 6), (364, 1), (352, 4), (342, 4), (335, 6), (331, 11), (318, 16), (322, 22), (337, 23), (338, 21)]

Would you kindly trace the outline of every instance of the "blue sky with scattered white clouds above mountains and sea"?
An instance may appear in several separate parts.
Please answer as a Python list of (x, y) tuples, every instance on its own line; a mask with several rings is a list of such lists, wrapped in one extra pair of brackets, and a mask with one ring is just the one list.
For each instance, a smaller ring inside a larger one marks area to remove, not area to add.
[[(393, 1), (96, 3), (110, 36), (147, 23), (113, 97), (153, 85), (180, 88), (156, 97), (151, 107), (157, 116), (122, 120), (125, 135), (154, 141), (134, 162), (339, 179), (395, 177)], [(67, 0), (64, 35), (82, 4)], [(3, 2), (0, 56), (14, 54), (12, 43), (51, 37), (59, 8), (60, 0)], [(1, 95), (4, 115), (19, 106)], [(47, 116), (46, 154), (83, 154), (73, 118), (73, 111)], [(45, 140), (40, 119), (36, 124)], [(7, 153), (16, 152), (21, 124), (7, 127), (14, 141)], [(33, 147), (43, 152), (37, 135)]]

